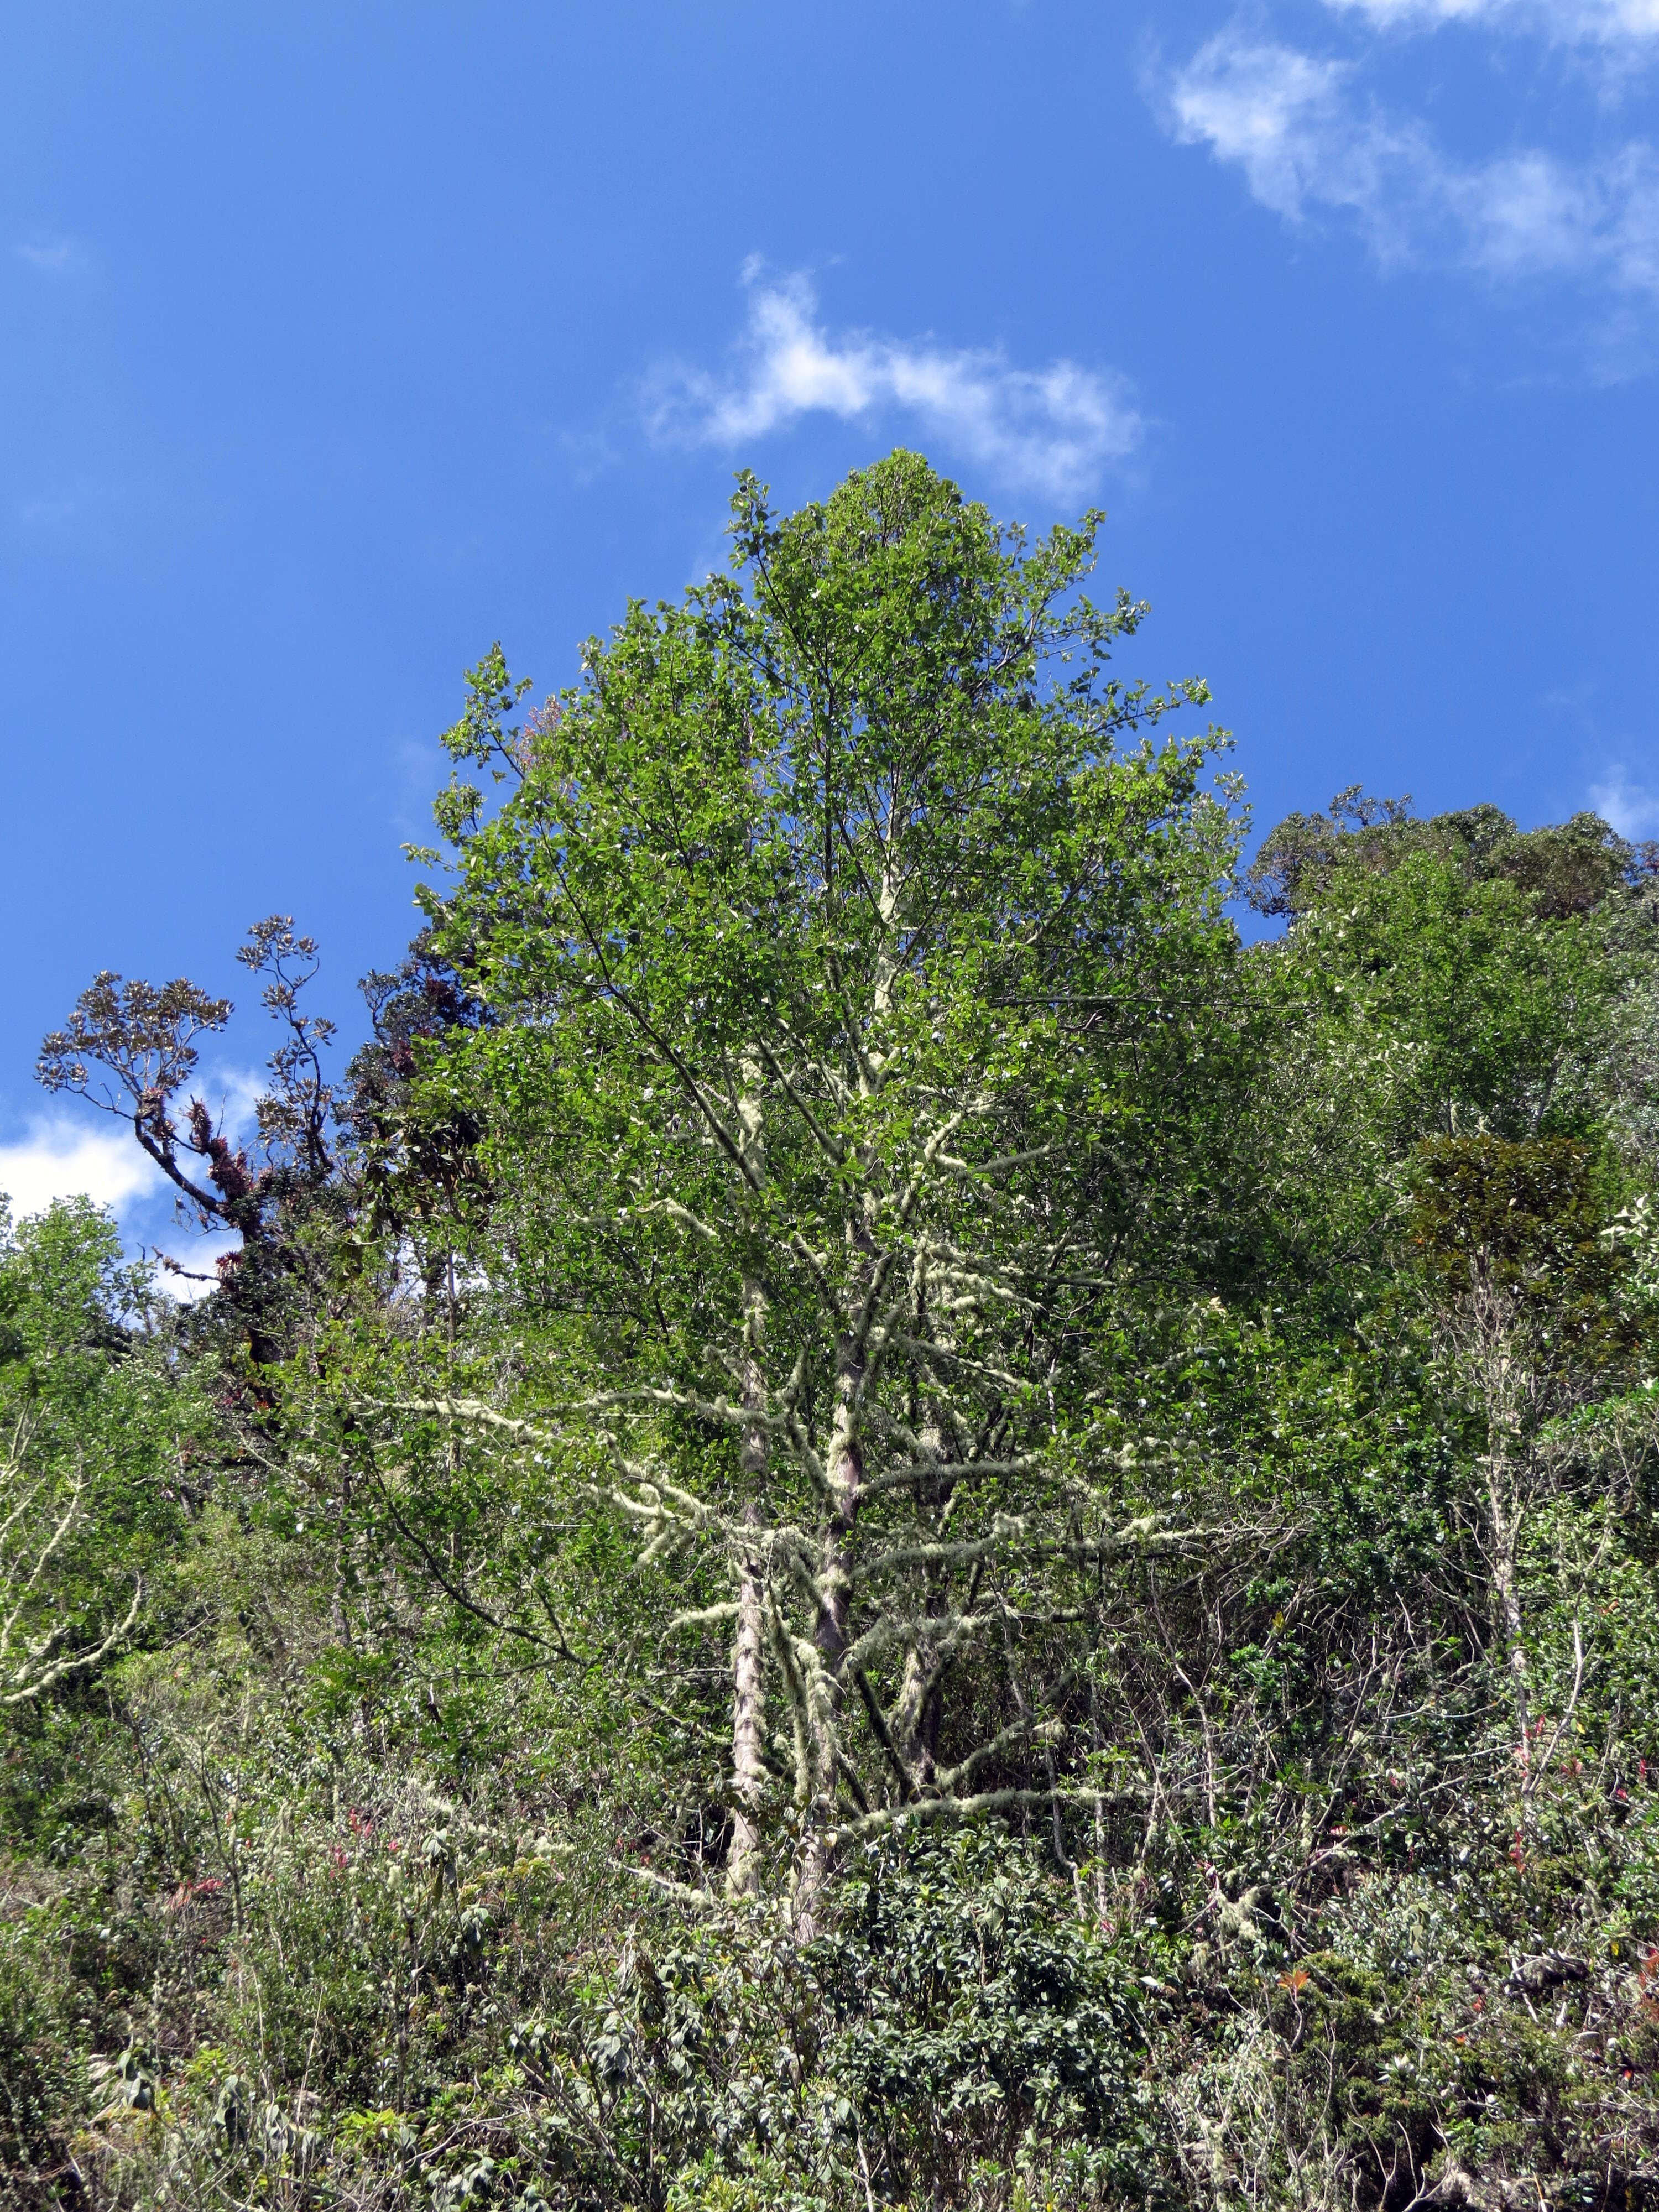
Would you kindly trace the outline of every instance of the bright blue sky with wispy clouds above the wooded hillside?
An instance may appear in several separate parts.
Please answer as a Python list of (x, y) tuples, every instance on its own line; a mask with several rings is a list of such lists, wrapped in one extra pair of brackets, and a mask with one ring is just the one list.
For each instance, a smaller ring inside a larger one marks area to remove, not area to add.
[(1261, 827), (1659, 834), (1659, 0), (60, 0), (0, 117), (20, 1208), (161, 1234), (42, 1031), (274, 909), (354, 1029), (460, 670), (566, 681), (741, 465), (1104, 504)]

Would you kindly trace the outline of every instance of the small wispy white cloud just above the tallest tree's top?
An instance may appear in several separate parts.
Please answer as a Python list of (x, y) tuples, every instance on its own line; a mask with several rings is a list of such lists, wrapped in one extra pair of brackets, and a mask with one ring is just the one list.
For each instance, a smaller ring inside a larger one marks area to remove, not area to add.
[(993, 347), (834, 334), (805, 276), (765, 281), (752, 263), (743, 281), (752, 292), (739, 372), (661, 372), (646, 394), (655, 436), (732, 447), (803, 414), (905, 414), (1002, 487), (1051, 500), (1086, 493), (1139, 442), (1141, 418), (1115, 376), (1075, 361), (1020, 369)]

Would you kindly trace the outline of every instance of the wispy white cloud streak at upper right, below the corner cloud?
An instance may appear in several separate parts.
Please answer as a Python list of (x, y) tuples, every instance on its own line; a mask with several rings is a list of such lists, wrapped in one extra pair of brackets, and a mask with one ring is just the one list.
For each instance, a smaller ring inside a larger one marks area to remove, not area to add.
[(1237, 164), (1265, 208), (1287, 221), (1314, 208), (1352, 215), (1383, 261), (1659, 296), (1650, 144), (1582, 164), (1544, 148), (1460, 164), (1411, 117), (1363, 102), (1354, 77), (1349, 62), (1223, 31), (1177, 71), (1166, 108), (1175, 137)]

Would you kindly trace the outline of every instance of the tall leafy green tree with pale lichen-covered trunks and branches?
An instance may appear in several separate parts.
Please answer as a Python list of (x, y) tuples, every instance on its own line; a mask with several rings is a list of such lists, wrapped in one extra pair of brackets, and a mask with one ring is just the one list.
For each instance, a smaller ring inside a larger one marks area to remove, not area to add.
[(1203, 686), (1106, 675), (1097, 520), (1026, 546), (909, 453), (787, 520), (743, 480), (734, 580), (518, 723), (491, 655), (449, 739), (511, 785), (442, 801), (429, 911), (493, 1018), (520, 1438), (732, 1626), (730, 1880), (776, 1712), (805, 1920), (836, 1836), (1084, 1790), (1086, 1590), (1190, 1540), (1124, 1526), (1091, 1354), (1237, 825), (1214, 732), (1144, 734)]

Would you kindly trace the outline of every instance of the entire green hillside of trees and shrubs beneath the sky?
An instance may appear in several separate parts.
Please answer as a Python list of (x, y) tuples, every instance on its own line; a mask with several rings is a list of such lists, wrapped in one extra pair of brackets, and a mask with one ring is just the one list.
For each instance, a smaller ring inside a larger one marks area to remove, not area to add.
[(745, 480), (343, 1075), (46, 1040), (241, 1248), (0, 1248), (7, 2203), (1659, 2201), (1659, 852), (1243, 869), (1095, 531)]

